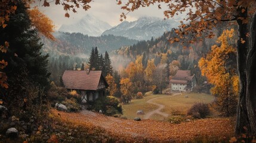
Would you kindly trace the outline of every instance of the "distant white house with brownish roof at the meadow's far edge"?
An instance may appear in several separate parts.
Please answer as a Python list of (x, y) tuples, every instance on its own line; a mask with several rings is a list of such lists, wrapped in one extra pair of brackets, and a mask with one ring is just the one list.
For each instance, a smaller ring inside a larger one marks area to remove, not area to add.
[(191, 76), (190, 70), (178, 70), (170, 80), (171, 91), (190, 92), (196, 86), (195, 74)]

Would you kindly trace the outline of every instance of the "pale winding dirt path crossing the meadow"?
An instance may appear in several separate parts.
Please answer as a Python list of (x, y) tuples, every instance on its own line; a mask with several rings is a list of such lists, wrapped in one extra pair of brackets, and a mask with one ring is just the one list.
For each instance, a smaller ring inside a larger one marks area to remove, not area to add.
[[(172, 95), (172, 97), (174, 97), (176, 95), (180, 95), (180, 94), (181, 93), (175, 93), (174, 95)], [(161, 111), (163, 108), (165, 108), (165, 105), (157, 104), (156, 102), (154, 102), (154, 100), (159, 99), (159, 98), (166, 98), (166, 97), (156, 97), (156, 98), (152, 98), (151, 100), (147, 101), (147, 103), (149, 103), (149, 104), (158, 105), (158, 108), (156, 110), (150, 111), (149, 113), (145, 114), (143, 119), (149, 119), (153, 114), (159, 114), (163, 117), (169, 116), (169, 114)]]

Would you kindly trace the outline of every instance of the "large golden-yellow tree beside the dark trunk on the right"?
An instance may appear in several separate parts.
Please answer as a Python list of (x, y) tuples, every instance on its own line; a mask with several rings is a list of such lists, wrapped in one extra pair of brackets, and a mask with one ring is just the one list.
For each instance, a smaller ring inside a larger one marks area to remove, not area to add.
[(224, 116), (236, 113), (239, 80), (236, 73), (236, 48), (234, 30), (224, 30), (205, 58), (199, 60), (202, 76), (214, 85), (211, 93), (216, 95), (215, 108)]

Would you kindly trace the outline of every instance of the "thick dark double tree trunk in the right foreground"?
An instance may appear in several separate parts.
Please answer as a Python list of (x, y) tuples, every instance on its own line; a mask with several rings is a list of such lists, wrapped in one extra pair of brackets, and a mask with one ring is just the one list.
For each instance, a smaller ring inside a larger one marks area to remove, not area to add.
[[(246, 13), (240, 14), (247, 17)], [(250, 36), (246, 38), (248, 24), (242, 24), (238, 20), (239, 39), (238, 39), (238, 73), (240, 82), (240, 92), (238, 110), (236, 117), (236, 134), (249, 132), (256, 133), (256, 15), (252, 17)], [(241, 38), (246, 43), (241, 42)], [(248, 48), (249, 47), (249, 48)], [(245, 130), (246, 127), (248, 130)]]

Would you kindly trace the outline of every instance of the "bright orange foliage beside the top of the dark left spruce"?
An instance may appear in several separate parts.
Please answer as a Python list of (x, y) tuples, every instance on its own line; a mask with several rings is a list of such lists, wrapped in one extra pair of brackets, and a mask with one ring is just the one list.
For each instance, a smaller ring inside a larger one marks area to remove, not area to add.
[(53, 21), (48, 18), (45, 14), (41, 13), (37, 7), (32, 10), (28, 10), (29, 17), (31, 20), (32, 26), (34, 26), (39, 33), (44, 35), (49, 39), (54, 39), (54, 24)]

